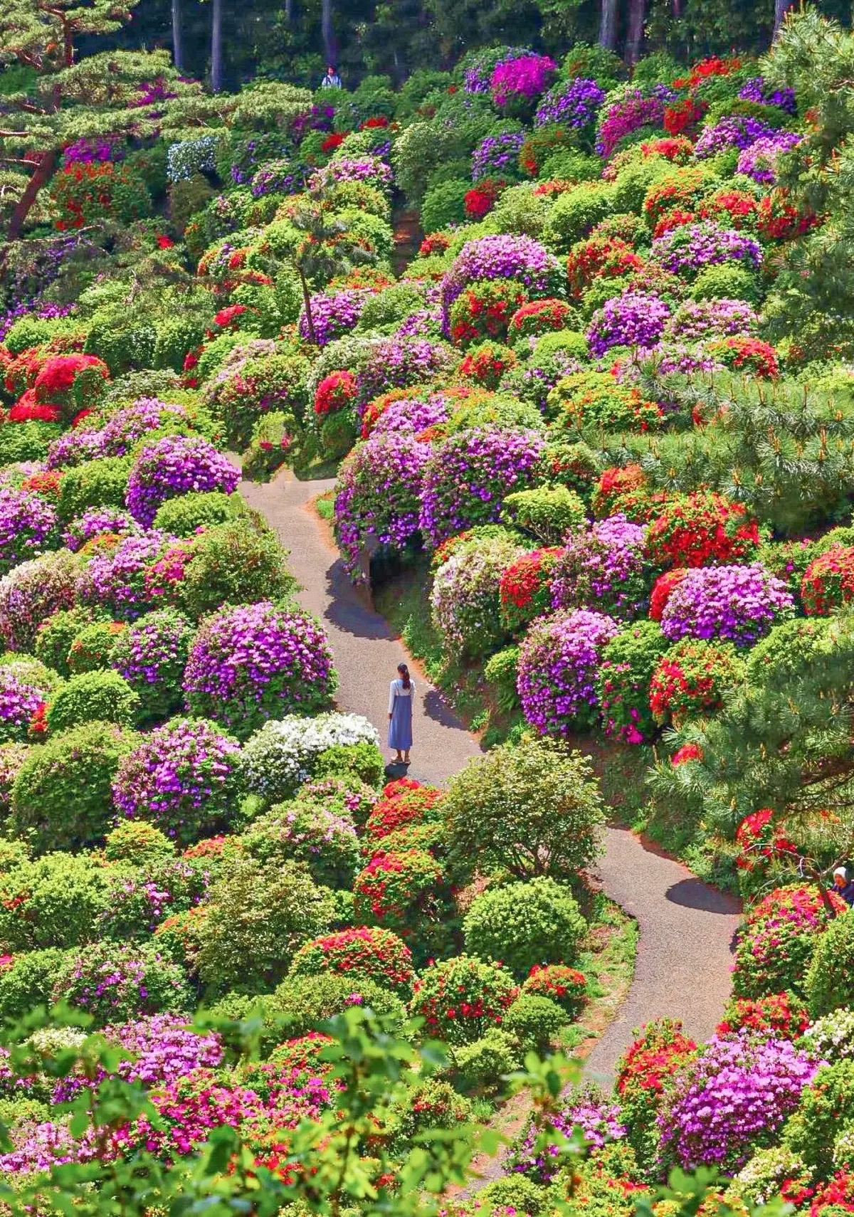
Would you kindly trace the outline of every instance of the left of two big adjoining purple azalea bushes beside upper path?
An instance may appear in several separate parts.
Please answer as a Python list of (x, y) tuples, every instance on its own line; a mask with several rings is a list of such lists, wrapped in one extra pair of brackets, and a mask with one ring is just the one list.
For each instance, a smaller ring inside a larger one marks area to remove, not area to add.
[[(394, 405), (427, 409), (422, 402)], [(361, 550), (370, 535), (401, 549), (417, 532), (421, 482), (431, 449), (406, 430), (412, 428), (404, 428), (401, 421), (389, 433), (375, 431), (341, 466), (335, 531), (342, 561), (353, 578), (361, 577)]]

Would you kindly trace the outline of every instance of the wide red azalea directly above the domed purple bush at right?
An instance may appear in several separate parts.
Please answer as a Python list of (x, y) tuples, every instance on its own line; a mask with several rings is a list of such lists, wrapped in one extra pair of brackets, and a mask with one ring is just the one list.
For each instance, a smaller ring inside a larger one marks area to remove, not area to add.
[(695, 490), (664, 503), (646, 534), (653, 566), (707, 566), (752, 561), (759, 527), (740, 503), (717, 490)]

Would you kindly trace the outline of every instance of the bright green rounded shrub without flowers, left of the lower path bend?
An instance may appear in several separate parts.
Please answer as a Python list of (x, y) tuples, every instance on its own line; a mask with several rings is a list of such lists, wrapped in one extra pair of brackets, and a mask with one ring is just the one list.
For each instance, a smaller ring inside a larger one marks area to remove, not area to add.
[(535, 964), (569, 964), (586, 931), (572, 892), (554, 879), (487, 888), (462, 919), (466, 950), (500, 959), (523, 980)]

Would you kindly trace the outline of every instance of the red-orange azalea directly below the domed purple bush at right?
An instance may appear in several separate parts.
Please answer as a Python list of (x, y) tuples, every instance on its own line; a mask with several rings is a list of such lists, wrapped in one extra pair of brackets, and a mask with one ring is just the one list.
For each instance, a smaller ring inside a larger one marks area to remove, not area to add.
[(658, 723), (679, 727), (686, 718), (717, 710), (724, 689), (735, 684), (743, 663), (730, 643), (685, 638), (661, 658), (650, 682), (650, 710)]

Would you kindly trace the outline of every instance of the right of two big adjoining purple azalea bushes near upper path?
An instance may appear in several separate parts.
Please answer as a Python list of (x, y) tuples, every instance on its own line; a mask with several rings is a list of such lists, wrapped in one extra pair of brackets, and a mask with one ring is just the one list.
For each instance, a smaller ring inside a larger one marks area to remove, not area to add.
[(431, 546), (499, 518), (501, 500), (530, 486), (543, 456), (535, 431), (474, 427), (438, 444), (425, 466), (418, 526)]

